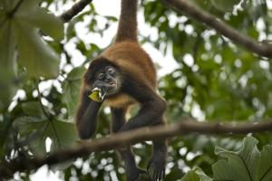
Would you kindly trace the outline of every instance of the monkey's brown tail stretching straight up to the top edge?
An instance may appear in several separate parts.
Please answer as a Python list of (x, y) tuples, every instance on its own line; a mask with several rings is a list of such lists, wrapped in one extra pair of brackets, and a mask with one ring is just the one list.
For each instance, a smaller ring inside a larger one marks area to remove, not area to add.
[(138, 0), (121, 0), (121, 14), (115, 42), (137, 42)]

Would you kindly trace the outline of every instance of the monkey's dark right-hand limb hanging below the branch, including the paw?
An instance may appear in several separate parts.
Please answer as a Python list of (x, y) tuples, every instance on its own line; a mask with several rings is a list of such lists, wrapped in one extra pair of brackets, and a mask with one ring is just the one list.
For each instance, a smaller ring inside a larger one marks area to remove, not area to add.
[[(164, 124), (163, 119), (159, 123)], [(159, 125), (157, 124), (157, 125)], [(154, 125), (155, 126), (155, 125)], [(153, 141), (153, 154), (148, 164), (148, 173), (151, 176), (151, 181), (161, 181), (165, 177), (165, 164), (167, 157), (167, 140), (160, 138)]]

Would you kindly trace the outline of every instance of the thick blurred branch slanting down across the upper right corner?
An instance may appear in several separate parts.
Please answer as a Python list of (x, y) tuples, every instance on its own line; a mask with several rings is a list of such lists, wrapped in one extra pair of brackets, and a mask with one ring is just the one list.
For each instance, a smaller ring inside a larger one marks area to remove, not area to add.
[(210, 27), (216, 29), (219, 33), (228, 37), (235, 43), (241, 44), (246, 47), (249, 51), (255, 52), (258, 55), (265, 57), (272, 57), (272, 45), (268, 43), (257, 43), (252, 38), (239, 33), (236, 29), (232, 28), (228, 24), (225, 24), (219, 19), (209, 14), (195, 5), (191, 5), (189, 0), (164, 0), (175, 8), (179, 9), (182, 13), (188, 14), (195, 20), (207, 24)]

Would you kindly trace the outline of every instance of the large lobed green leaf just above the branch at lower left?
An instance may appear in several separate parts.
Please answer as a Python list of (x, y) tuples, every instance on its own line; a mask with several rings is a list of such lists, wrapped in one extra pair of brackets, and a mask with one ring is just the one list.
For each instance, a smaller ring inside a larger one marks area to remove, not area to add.
[(56, 149), (72, 147), (74, 141), (78, 139), (74, 124), (61, 120), (24, 116), (15, 119), (14, 125), (19, 131), (22, 144), (28, 145), (35, 156), (46, 154), (46, 138), (52, 140), (51, 152)]

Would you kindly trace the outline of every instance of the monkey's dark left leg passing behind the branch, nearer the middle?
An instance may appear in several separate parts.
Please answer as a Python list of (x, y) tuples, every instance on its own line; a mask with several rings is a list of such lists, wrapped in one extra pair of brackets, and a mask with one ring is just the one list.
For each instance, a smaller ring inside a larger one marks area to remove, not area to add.
[[(115, 133), (125, 124), (126, 109), (112, 108), (112, 132)], [(134, 181), (140, 176), (145, 174), (144, 170), (141, 170), (136, 166), (134, 155), (131, 151), (131, 146), (121, 148), (118, 150), (121, 159), (124, 161), (124, 167), (126, 170), (127, 181)]]

